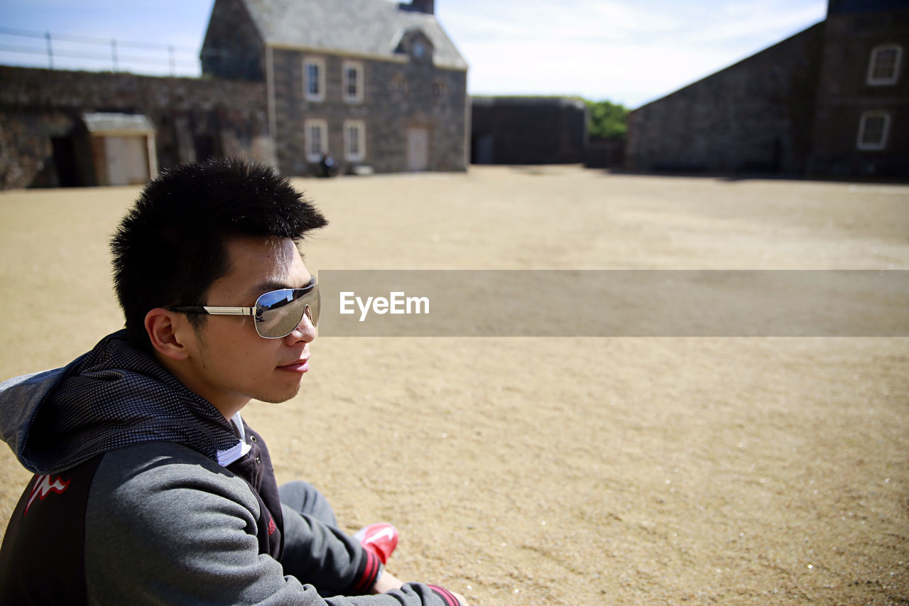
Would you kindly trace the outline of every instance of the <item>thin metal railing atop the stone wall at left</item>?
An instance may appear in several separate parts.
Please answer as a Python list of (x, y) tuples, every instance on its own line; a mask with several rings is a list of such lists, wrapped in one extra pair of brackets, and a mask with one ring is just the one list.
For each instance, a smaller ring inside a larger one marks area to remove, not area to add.
[[(218, 51), (206, 51), (206, 54)], [(199, 76), (200, 49), (0, 27), (0, 64)]]

